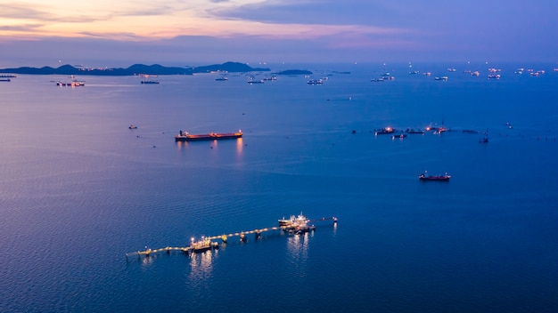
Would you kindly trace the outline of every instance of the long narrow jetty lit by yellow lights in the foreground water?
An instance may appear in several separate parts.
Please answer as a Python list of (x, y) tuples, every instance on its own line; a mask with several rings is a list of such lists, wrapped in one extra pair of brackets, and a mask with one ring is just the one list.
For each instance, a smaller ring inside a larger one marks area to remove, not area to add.
[(334, 225), (337, 224), (336, 217), (323, 217), (321, 219), (309, 220), (304, 215), (302, 215), (302, 213), (300, 213), (300, 215), (298, 216), (291, 215), (291, 218), (289, 219), (283, 218), (282, 220), (278, 220), (279, 226), (267, 227), (263, 229), (253, 229), (249, 231), (239, 231), (217, 236), (201, 237), (201, 239), (198, 241), (195, 241), (195, 239), (192, 238), (192, 241), (188, 246), (166, 246), (160, 249), (149, 249), (145, 247), (145, 250), (142, 251), (126, 253), (126, 257), (135, 255), (137, 255), (138, 257), (141, 257), (142, 255), (144, 255), (144, 257), (150, 257), (153, 253), (170, 253), (172, 251), (178, 251), (185, 254), (203, 253), (208, 250), (218, 249), (219, 242), (213, 240), (221, 240), (221, 243), (226, 244), (229, 237), (239, 237), (241, 242), (245, 242), (247, 240), (247, 236), (250, 234), (254, 234), (256, 238), (259, 238), (261, 237), (262, 233), (273, 230), (283, 230), (293, 235), (302, 234), (316, 229), (316, 226), (310, 223), (329, 220), (332, 220)]

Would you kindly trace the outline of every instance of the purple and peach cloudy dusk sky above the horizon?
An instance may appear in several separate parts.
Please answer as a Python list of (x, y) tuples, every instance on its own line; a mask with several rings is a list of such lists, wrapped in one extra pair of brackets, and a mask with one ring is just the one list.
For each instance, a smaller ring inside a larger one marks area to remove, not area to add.
[(556, 0), (0, 0), (0, 67), (558, 61)]

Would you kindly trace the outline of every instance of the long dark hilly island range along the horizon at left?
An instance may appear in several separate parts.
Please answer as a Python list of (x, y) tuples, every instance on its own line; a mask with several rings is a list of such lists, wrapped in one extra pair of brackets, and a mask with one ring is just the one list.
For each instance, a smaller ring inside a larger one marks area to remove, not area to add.
[(203, 67), (179, 68), (164, 67), (159, 64), (135, 64), (129, 68), (83, 68), (62, 65), (59, 68), (0, 68), (0, 73), (28, 74), (28, 75), (93, 75), (93, 76), (134, 76), (134, 75), (193, 75), (211, 72), (265, 72), (269, 68), (251, 68), (239, 62), (226, 62)]

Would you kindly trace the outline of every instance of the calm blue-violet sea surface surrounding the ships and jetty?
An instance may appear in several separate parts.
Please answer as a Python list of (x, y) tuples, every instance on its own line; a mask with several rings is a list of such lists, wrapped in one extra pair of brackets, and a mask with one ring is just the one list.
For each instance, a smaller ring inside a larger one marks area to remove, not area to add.
[(558, 311), (557, 64), (265, 67), (0, 82), (0, 311)]

